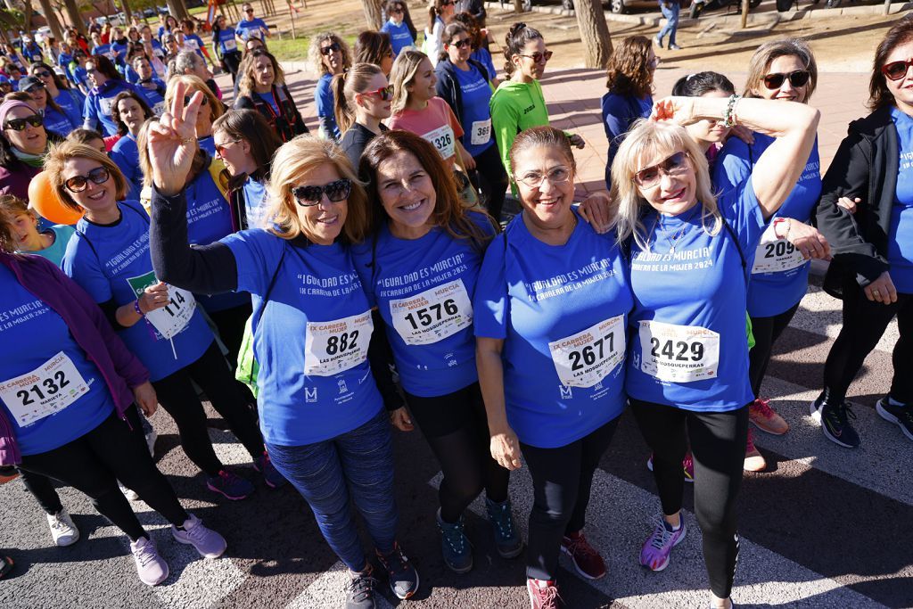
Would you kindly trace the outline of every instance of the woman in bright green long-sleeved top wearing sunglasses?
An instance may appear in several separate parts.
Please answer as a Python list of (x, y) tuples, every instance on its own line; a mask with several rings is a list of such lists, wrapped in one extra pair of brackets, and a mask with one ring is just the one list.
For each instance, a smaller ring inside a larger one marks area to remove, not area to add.
[[(510, 173), (510, 147), (520, 131), (530, 127), (549, 124), (549, 110), (542, 96), (539, 79), (545, 73), (545, 64), (551, 58), (551, 51), (545, 47), (545, 38), (539, 30), (525, 23), (515, 23), (504, 40), (504, 72), (508, 79), (498, 85), (491, 96), (491, 129), (501, 163)], [(582, 148), (582, 137), (567, 133), (572, 146)], [(517, 194), (517, 185), (511, 182), (510, 189)]]

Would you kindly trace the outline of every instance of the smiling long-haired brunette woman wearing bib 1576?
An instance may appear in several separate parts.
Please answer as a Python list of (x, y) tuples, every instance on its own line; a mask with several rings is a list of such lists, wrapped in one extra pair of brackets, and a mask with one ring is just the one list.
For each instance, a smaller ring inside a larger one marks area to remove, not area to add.
[[(463, 512), (483, 488), (498, 553), (512, 558), (523, 544), (509, 472), (488, 453), (472, 334), (472, 297), (494, 223), (466, 211), (441, 155), (415, 133), (377, 136), (361, 168), (373, 226), (352, 257), (393, 348), (406, 404), (444, 473), (437, 510), (444, 562), (455, 572), (472, 569)], [(404, 407), (393, 420), (413, 428)]]

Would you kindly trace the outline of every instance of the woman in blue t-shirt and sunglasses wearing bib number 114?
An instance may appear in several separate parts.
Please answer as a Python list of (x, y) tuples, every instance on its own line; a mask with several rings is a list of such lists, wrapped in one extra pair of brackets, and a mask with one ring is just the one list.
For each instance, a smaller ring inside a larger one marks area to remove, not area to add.
[(254, 486), (216, 457), (193, 383), (203, 388), (260, 471), (269, 467), (263, 439), (193, 294), (155, 278), (149, 217), (139, 202), (122, 200), (126, 178), (106, 155), (76, 142), (54, 148), (45, 171), (65, 205), (85, 212), (68, 243), (64, 272), (99, 303), (149, 369), (159, 403), (172, 415), (184, 453), (204, 471), (206, 487), (227, 499), (246, 498)]

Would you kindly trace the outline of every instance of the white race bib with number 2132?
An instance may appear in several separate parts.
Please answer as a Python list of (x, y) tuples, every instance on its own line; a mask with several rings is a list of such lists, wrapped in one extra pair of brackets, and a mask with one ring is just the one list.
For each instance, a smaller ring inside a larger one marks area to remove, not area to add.
[(30, 373), (0, 383), (0, 398), (20, 427), (54, 415), (89, 393), (89, 383), (65, 352)]

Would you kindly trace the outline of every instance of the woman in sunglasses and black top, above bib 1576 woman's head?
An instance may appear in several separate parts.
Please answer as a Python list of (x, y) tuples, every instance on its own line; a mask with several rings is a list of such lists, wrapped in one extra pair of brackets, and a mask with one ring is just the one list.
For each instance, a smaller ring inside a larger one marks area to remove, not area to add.
[(357, 63), (337, 76), (333, 88), (336, 124), (342, 131), (340, 148), (357, 168), (365, 146), (387, 131), (381, 121), (390, 118), (394, 89), (383, 70), (370, 63)]

